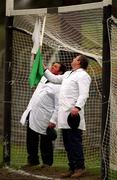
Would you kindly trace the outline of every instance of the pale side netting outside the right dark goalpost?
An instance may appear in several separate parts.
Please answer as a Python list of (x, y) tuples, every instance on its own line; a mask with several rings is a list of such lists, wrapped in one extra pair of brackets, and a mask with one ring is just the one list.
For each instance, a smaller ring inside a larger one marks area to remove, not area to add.
[[(117, 178), (117, 19), (111, 17), (108, 19), (108, 32), (110, 36), (110, 55), (111, 55), (111, 83), (110, 97), (108, 105), (107, 120), (103, 137), (103, 157), (106, 169), (109, 168), (110, 178)], [(107, 147), (108, 146), (108, 147)]]

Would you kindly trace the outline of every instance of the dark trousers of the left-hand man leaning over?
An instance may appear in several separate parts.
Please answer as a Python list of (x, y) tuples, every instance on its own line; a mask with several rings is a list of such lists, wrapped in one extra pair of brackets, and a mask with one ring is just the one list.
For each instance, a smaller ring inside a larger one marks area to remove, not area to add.
[[(40, 142), (40, 143), (39, 143)], [(27, 153), (28, 163), (31, 165), (40, 164), (38, 147), (43, 164), (51, 166), (53, 164), (53, 143), (47, 135), (39, 134), (27, 126)]]

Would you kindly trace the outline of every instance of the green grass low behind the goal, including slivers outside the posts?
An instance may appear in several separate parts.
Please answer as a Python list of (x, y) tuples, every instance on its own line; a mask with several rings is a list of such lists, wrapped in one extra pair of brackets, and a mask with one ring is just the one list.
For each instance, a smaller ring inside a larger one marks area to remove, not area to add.
[[(0, 144), (0, 162), (2, 164), (3, 159), (3, 145)], [(12, 145), (11, 148), (11, 167), (15, 169), (20, 169), (21, 166), (26, 164), (27, 152), (25, 146), (19, 147), (17, 145)], [(100, 158), (98, 153), (95, 153), (95, 156), (85, 156), (86, 159), (86, 170), (89, 174), (98, 175), (101, 174), (100, 168)], [(63, 150), (56, 150), (54, 153), (54, 164), (53, 167), (58, 170), (66, 170), (68, 169), (66, 153)], [(111, 179), (117, 179), (117, 171), (110, 170), (109, 176)]]

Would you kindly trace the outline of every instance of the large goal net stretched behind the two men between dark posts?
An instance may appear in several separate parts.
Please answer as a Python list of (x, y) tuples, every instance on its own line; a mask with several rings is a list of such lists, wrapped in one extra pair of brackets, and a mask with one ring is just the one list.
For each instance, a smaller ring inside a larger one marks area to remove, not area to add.
[[(101, 3), (92, 3), (92, 6), (80, 5), (78, 7), (74, 11), (46, 14), (42, 55), (47, 66), (54, 61), (62, 61), (68, 69), (70, 69), (70, 61), (78, 53), (85, 54), (90, 59), (88, 72), (91, 75), (92, 83), (90, 97), (85, 107), (87, 130), (83, 133), (83, 145), (86, 167), (92, 169), (100, 168), (101, 165), (103, 6)], [(28, 84), (33, 46), (32, 33), (36, 18), (40, 17), (40, 20), (43, 21), (43, 16), (43, 14), (17, 15), (14, 16), (13, 27), (9, 27), (13, 31), (12, 81), (10, 82), (12, 87), (11, 165), (21, 166), (26, 163), (27, 159), (26, 126), (22, 127), (19, 121), (34, 92), (34, 88), (31, 89)], [(116, 32), (116, 29), (113, 28), (113, 31)], [(115, 51), (112, 54), (114, 53)], [(114, 104), (116, 103), (115, 96), (117, 97), (115, 89), (113, 91), (116, 85), (116, 59), (113, 60), (113, 64), (111, 81), (113, 95), (110, 96), (112, 107), (116, 105)], [(111, 109), (110, 116), (115, 122), (116, 117), (113, 110), (114, 108)], [(113, 124), (113, 130), (110, 133), (110, 136), (114, 136), (114, 138), (116, 137), (115, 128), (116, 125)], [(113, 140), (110, 138), (111, 147), (114, 145), (114, 138)], [(115, 155), (116, 152), (111, 150), (111, 164), (116, 161)], [(55, 142), (54, 165), (67, 165), (60, 130), (58, 130), (58, 138)]]

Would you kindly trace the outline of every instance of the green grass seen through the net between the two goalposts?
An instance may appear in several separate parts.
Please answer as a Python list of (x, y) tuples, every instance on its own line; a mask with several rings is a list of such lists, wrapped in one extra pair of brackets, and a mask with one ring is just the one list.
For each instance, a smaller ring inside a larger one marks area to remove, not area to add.
[[(11, 150), (11, 166), (18, 169), (27, 162), (27, 152), (25, 147), (12, 146)], [(66, 153), (63, 150), (56, 150), (54, 152), (54, 167), (68, 168)], [(94, 174), (99, 174), (100, 160), (99, 156), (86, 157), (86, 169)]]

